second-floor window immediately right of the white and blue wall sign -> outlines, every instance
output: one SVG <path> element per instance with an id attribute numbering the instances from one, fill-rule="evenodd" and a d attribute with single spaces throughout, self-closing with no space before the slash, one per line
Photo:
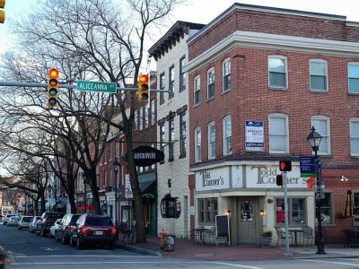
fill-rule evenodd
<path id="1" fill-rule="evenodd" d="M 289 152 L 288 117 L 283 114 L 269 115 L 269 152 Z"/>

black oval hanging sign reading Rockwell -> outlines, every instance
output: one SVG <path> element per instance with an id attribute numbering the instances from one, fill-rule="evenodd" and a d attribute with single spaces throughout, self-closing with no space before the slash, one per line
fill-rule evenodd
<path id="1" fill-rule="evenodd" d="M 126 154 L 127 159 L 127 154 Z M 134 150 L 134 161 L 136 166 L 151 166 L 156 162 L 164 160 L 164 153 L 150 146 L 139 146 Z"/>

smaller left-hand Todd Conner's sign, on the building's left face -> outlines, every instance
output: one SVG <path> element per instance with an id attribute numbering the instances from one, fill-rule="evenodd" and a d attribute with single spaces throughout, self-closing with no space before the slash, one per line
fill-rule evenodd
<path id="1" fill-rule="evenodd" d="M 196 172 L 196 191 L 229 188 L 229 171 L 229 167 L 223 167 Z"/>

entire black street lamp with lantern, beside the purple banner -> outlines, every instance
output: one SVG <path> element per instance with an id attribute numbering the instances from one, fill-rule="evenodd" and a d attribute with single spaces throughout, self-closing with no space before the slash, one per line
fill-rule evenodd
<path id="1" fill-rule="evenodd" d="M 317 240 L 318 251 L 317 254 L 327 254 L 324 251 L 324 238 L 323 230 L 321 228 L 321 194 L 322 194 L 322 180 L 321 180 L 321 162 L 318 160 L 318 151 L 320 149 L 321 135 L 315 131 L 314 126 L 311 127 L 311 134 L 308 135 L 307 140 L 311 144 L 311 148 L 314 151 L 315 156 L 315 173 L 317 175 L 317 221 L 318 221 L 318 236 Z"/>

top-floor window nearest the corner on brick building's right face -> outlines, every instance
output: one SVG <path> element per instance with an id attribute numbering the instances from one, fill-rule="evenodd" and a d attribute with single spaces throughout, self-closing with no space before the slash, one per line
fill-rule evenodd
<path id="1" fill-rule="evenodd" d="M 288 71 L 285 56 L 268 56 L 270 88 L 288 88 Z"/>

